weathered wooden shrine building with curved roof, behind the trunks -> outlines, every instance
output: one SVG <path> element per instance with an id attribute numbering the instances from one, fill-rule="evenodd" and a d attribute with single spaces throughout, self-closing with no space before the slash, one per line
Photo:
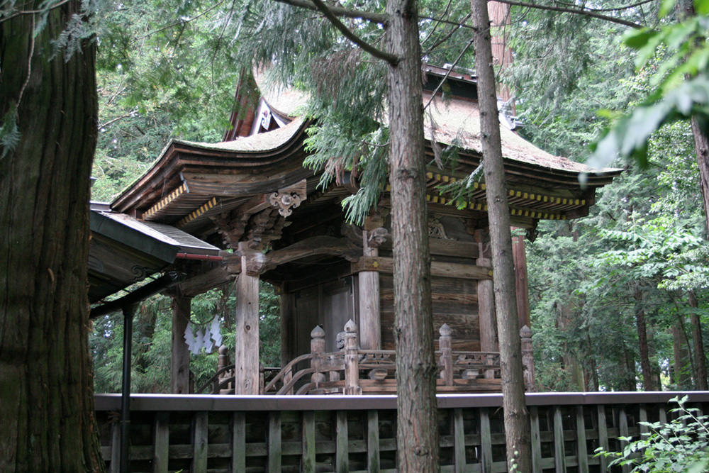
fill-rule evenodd
<path id="1" fill-rule="evenodd" d="M 481 162 L 475 77 L 427 66 L 424 98 L 430 99 L 430 91 L 449 72 L 446 100 L 439 94 L 430 105 L 436 129 L 425 130 L 432 162 L 433 137 L 442 146 L 459 148 L 455 169 L 430 165 L 427 174 L 432 307 L 435 330 L 442 328 L 440 386 L 444 391 L 494 391 L 499 367 L 485 184 L 473 184 L 469 200 L 457 205 L 439 190 Z M 179 260 L 189 278 L 172 290 L 173 391 L 188 391 L 182 333 L 190 298 L 232 280 L 238 335 L 236 352 L 228 355 L 235 365 L 237 394 L 276 392 L 270 389 L 279 386 L 281 393 L 292 393 L 306 384 L 300 392 L 391 391 L 389 193 L 363 227 L 347 223 L 341 201 L 354 184 L 345 175 L 343 184 L 318 189 L 320 174 L 302 165 L 307 156 L 303 140 L 313 123 L 298 116 L 298 107 L 307 98 L 293 90 L 269 91 L 262 84 L 259 90 L 257 106 L 242 110 L 242 118 L 233 117 L 227 140 L 171 140 L 155 164 L 111 203 L 113 213 L 177 228 L 223 250 L 220 262 Z M 510 130 L 510 123 L 501 119 L 510 213 L 518 228 L 534 233 L 540 220 L 585 216 L 596 189 L 620 172 L 592 172 L 549 155 Z M 588 173 L 585 187 L 579 184 L 581 173 Z M 259 279 L 280 289 L 281 366 L 287 367 L 268 389 L 259 378 Z M 353 323 L 343 331 L 350 319 Z M 321 329 L 313 330 L 318 325 Z M 346 359 L 359 365 L 352 368 Z M 369 379 L 359 380 L 358 370 Z"/>

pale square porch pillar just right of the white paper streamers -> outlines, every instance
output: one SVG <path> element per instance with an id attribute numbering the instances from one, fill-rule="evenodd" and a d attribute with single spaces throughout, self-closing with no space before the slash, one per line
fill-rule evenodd
<path id="1" fill-rule="evenodd" d="M 241 274 L 236 281 L 236 343 L 234 394 L 259 394 L 259 276 L 250 272 L 251 260 L 263 253 L 239 243 Z M 260 255 L 260 257 L 259 257 Z"/>

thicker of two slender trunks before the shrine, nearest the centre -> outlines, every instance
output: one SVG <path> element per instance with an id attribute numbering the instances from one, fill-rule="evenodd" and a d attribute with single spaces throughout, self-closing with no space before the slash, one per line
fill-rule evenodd
<path id="1" fill-rule="evenodd" d="M 438 435 L 425 200 L 423 87 L 415 1 L 389 0 L 389 180 L 396 312 L 398 471 L 437 472 Z"/>

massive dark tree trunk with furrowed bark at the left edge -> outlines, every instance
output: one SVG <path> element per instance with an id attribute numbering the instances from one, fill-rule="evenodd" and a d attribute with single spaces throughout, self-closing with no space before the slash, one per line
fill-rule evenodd
<path id="1" fill-rule="evenodd" d="M 0 157 L 2 472 L 104 468 L 86 295 L 96 48 L 66 61 L 51 44 L 80 4 L 60 2 L 36 36 L 37 15 L 0 23 L 0 116 L 17 107 L 20 133 Z"/>

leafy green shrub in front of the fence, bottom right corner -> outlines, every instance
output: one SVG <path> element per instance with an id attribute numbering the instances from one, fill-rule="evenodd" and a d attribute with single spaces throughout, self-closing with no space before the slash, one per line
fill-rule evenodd
<path id="1" fill-rule="evenodd" d="M 709 471 L 709 416 L 700 416 L 697 408 L 686 407 L 687 396 L 675 397 L 679 407 L 670 413 L 677 417 L 669 423 L 640 422 L 649 428 L 639 440 L 620 437 L 626 442 L 623 452 L 596 450 L 596 456 L 613 458 L 609 467 L 632 467 L 631 472 L 700 473 Z"/>

